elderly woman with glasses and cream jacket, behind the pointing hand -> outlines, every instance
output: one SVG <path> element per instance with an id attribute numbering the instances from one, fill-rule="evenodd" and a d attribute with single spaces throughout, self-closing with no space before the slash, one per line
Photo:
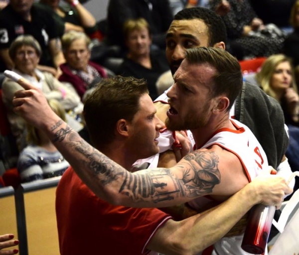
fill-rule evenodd
<path id="1" fill-rule="evenodd" d="M 41 53 L 40 45 L 31 35 L 17 37 L 9 48 L 9 56 L 14 63 L 12 70 L 40 88 L 48 100 L 56 99 L 60 102 L 64 110 L 69 111 L 77 108 L 81 102 L 75 91 L 59 82 L 52 74 L 36 69 Z M 3 103 L 7 108 L 8 121 L 19 149 L 24 145 L 25 122 L 13 112 L 12 99 L 14 93 L 22 89 L 20 85 L 11 79 L 5 78 L 3 81 Z"/>

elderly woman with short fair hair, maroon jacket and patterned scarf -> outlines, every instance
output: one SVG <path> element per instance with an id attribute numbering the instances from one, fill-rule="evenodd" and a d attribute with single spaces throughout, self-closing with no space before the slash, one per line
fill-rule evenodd
<path id="1" fill-rule="evenodd" d="M 71 83 L 82 99 L 91 84 L 107 78 L 107 72 L 89 61 L 90 38 L 86 34 L 70 31 L 62 36 L 61 43 L 66 63 L 60 65 L 62 75 L 58 79 Z"/>

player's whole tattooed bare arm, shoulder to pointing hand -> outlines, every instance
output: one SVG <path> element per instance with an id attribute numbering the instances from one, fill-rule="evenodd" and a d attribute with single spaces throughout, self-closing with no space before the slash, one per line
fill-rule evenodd
<path id="1" fill-rule="evenodd" d="M 25 80 L 18 81 L 19 84 L 22 82 L 25 83 Z M 51 111 L 38 89 L 24 84 L 23 87 L 25 90 L 15 93 L 15 111 L 29 123 L 47 132 L 80 178 L 97 196 L 110 203 L 165 207 L 206 194 L 230 196 L 246 184 L 240 181 L 242 176 L 236 176 L 237 172 L 242 173 L 236 156 L 234 158 L 232 153 L 216 145 L 188 154 L 171 168 L 131 173 L 90 146 L 62 122 Z M 230 171 L 223 174 L 223 169 L 228 167 Z M 238 182 L 231 183 L 232 178 Z M 227 187 L 226 184 L 230 185 Z"/>

